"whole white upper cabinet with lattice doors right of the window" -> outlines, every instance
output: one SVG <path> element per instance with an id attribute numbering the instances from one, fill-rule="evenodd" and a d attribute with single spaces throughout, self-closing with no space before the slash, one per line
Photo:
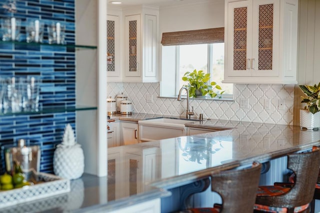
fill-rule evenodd
<path id="1" fill-rule="evenodd" d="M 297 83 L 297 0 L 226 0 L 224 24 L 223 82 Z"/>

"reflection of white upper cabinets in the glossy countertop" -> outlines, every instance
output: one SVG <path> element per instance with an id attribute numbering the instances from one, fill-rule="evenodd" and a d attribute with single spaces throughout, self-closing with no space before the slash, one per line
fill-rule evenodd
<path id="1" fill-rule="evenodd" d="M 143 183 L 155 181 L 161 175 L 159 147 L 136 149 L 113 147 L 108 149 L 108 187 L 115 194 L 109 200 L 136 195 L 147 190 Z M 113 196 L 113 197 L 111 197 Z M 115 197 L 114 197 L 115 196 Z"/>

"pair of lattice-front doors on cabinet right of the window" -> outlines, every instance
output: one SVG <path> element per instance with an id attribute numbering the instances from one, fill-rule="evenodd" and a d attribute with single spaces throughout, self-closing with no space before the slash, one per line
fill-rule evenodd
<path id="1" fill-rule="evenodd" d="M 279 1 L 230 1 L 227 13 L 227 75 L 277 76 Z"/>

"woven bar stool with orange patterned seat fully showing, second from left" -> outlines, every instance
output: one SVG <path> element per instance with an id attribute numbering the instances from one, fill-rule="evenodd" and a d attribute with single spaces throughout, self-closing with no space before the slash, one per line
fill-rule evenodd
<path id="1" fill-rule="evenodd" d="M 320 166 L 320 149 L 290 154 L 287 168 L 295 174 L 294 184 L 259 186 L 254 213 L 309 212 Z"/>

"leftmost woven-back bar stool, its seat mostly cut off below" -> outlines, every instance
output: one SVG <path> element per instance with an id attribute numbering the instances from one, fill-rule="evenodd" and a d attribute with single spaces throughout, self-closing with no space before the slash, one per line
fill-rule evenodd
<path id="1" fill-rule="evenodd" d="M 190 208 L 180 213 L 252 213 L 260 171 L 261 164 L 253 162 L 250 168 L 212 174 L 211 191 L 221 196 L 222 205 L 214 204 L 213 208 Z"/>

